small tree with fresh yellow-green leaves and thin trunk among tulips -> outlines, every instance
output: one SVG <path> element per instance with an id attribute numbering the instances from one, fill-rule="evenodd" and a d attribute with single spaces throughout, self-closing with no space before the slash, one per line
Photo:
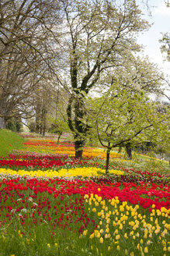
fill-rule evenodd
<path id="1" fill-rule="evenodd" d="M 164 140 L 169 133 L 166 112 L 158 112 L 155 102 L 114 84 L 101 98 L 89 99 L 92 132 L 107 149 L 106 172 L 112 148 Z M 165 135 L 166 134 L 166 135 Z"/>

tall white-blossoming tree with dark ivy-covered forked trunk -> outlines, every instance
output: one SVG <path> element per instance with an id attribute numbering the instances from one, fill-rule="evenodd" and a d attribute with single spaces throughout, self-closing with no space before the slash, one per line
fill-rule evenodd
<path id="1" fill-rule="evenodd" d="M 140 49 L 136 35 L 146 30 L 148 23 L 132 0 L 67 0 L 61 5 L 65 76 L 70 91 L 68 125 L 75 137 L 75 158 L 82 158 L 89 128 L 82 122 L 85 94 L 92 91 L 106 69 L 123 66 L 127 53 Z"/>

